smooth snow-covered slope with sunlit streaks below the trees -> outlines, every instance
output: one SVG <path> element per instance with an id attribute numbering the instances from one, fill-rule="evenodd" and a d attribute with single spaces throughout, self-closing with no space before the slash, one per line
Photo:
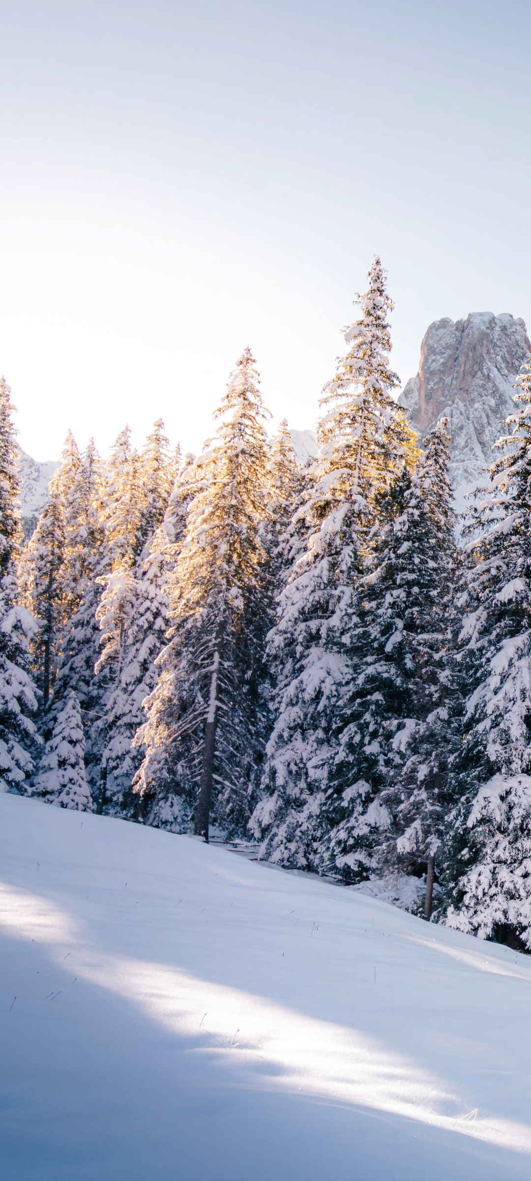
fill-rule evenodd
<path id="1" fill-rule="evenodd" d="M 530 958 L 13 796 L 0 847 L 2 1181 L 529 1181 Z"/>

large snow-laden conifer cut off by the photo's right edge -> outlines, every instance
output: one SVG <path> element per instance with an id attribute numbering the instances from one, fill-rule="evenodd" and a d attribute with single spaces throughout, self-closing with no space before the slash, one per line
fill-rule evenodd
<path id="1" fill-rule="evenodd" d="M 468 687 L 448 824 L 448 926 L 531 948 L 531 361 L 477 490 L 460 660 Z"/>

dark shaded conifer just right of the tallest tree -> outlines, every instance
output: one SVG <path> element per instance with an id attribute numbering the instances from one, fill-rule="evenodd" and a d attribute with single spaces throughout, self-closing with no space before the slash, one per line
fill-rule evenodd
<path id="1" fill-rule="evenodd" d="M 450 802 L 448 757 L 455 713 L 451 652 L 453 543 L 447 423 L 425 439 L 419 465 L 380 501 L 372 561 L 361 581 L 367 628 L 353 720 L 360 730 L 360 771 L 371 788 L 349 841 L 348 803 L 332 833 L 342 868 L 358 863 L 360 833 L 367 868 L 428 870 Z M 360 722 L 363 719 L 363 724 Z M 369 720 L 371 719 L 371 720 Z M 346 736 L 343 736 L 345 739 Z M 365 765 L 361 765 L 361 764 Z"/>

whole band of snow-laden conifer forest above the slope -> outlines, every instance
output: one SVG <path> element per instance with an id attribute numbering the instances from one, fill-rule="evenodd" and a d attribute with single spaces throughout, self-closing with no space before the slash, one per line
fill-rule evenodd
<path id="1" fill-rule="evenodd" d="M 68 432 L 25 540 L 0 384 L 0 790 L 531 950 L 531 361 L 455 541 L 448 423 L 396 402 L 375 257 L 306 466 L 249 348 L 199 456 Z M 330 366 L 332 368 L 332 366 Z"/>

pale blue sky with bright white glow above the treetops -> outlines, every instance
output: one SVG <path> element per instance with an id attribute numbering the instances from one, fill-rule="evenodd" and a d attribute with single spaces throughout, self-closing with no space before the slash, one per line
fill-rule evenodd
<path id="1" fill-rule="evenodd" d="M 531 326 L 522 0 L 0 0 L 0 373 L 19 441 L 201 448 L 248 345 L 313 429 L 375 253 L 393 366 Z"/>

